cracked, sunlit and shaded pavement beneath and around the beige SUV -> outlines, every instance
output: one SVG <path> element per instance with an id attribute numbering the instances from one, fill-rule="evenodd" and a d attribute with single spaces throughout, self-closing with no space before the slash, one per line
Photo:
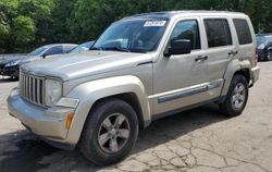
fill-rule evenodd
<path id="1" fill-rule="evenodd" d="M 106 168 L 24 130 L 5 103 L 17 83 L 0 77 L 0 171 L 272 171 L 272 62 L 259 65 L 260 81 L 240 116 L 224 118 L 211 105 L 159 120 L 140 132 L 128 158 Z"/>

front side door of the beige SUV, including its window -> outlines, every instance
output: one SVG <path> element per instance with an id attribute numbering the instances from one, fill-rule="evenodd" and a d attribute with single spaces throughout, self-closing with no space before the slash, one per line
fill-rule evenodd
<path id="1" fill-rule="evenodd" d="M 162 54 L 154 63 L 154 94 L 149 97 L 153 102 L 153 114 L 163 114 L 207 99 L 207 59 L 202 49 L 206 39 L 200 37 L 205 32 L 199 29 L 201 24 L 198 17 L 176 22 L 169 45 L 176 39 L 189 39 L 191 52 L 169 58 Z"/>

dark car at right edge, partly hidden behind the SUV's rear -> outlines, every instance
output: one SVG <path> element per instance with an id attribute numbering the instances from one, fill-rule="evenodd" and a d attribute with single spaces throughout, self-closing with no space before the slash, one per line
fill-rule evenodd
<path id="1" fill-rule="evenodd" d="M 256 35 L 258 45 L 258 60 L 272 60 L 272 34 Z"/>

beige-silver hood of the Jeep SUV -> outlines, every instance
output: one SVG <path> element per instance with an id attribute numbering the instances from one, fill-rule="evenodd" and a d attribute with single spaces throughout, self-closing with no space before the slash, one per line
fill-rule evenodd
<path id="1" fill-rule="evenodd" d="M 71 81 L 89 75 L 112 72 L 137 66 L 150 62 L 148 53 L 118 51 L 84 51 L 55 56 L 24 64 L 22 69 L 38 75 L 55 76 L 62 81 Z"/>

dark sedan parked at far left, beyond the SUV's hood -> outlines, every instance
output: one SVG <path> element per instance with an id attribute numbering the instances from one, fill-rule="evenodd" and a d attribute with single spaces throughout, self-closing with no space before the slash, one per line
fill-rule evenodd
<path id="1" fill-rule="evenodd" d="M 47 45 L 35 49 L 27 56 L 3 59 L 0 62 L 0 75 L 18 77 L 20 65 L 53 54 L 67 53 L 76 46 L 72 44 Z"/>

